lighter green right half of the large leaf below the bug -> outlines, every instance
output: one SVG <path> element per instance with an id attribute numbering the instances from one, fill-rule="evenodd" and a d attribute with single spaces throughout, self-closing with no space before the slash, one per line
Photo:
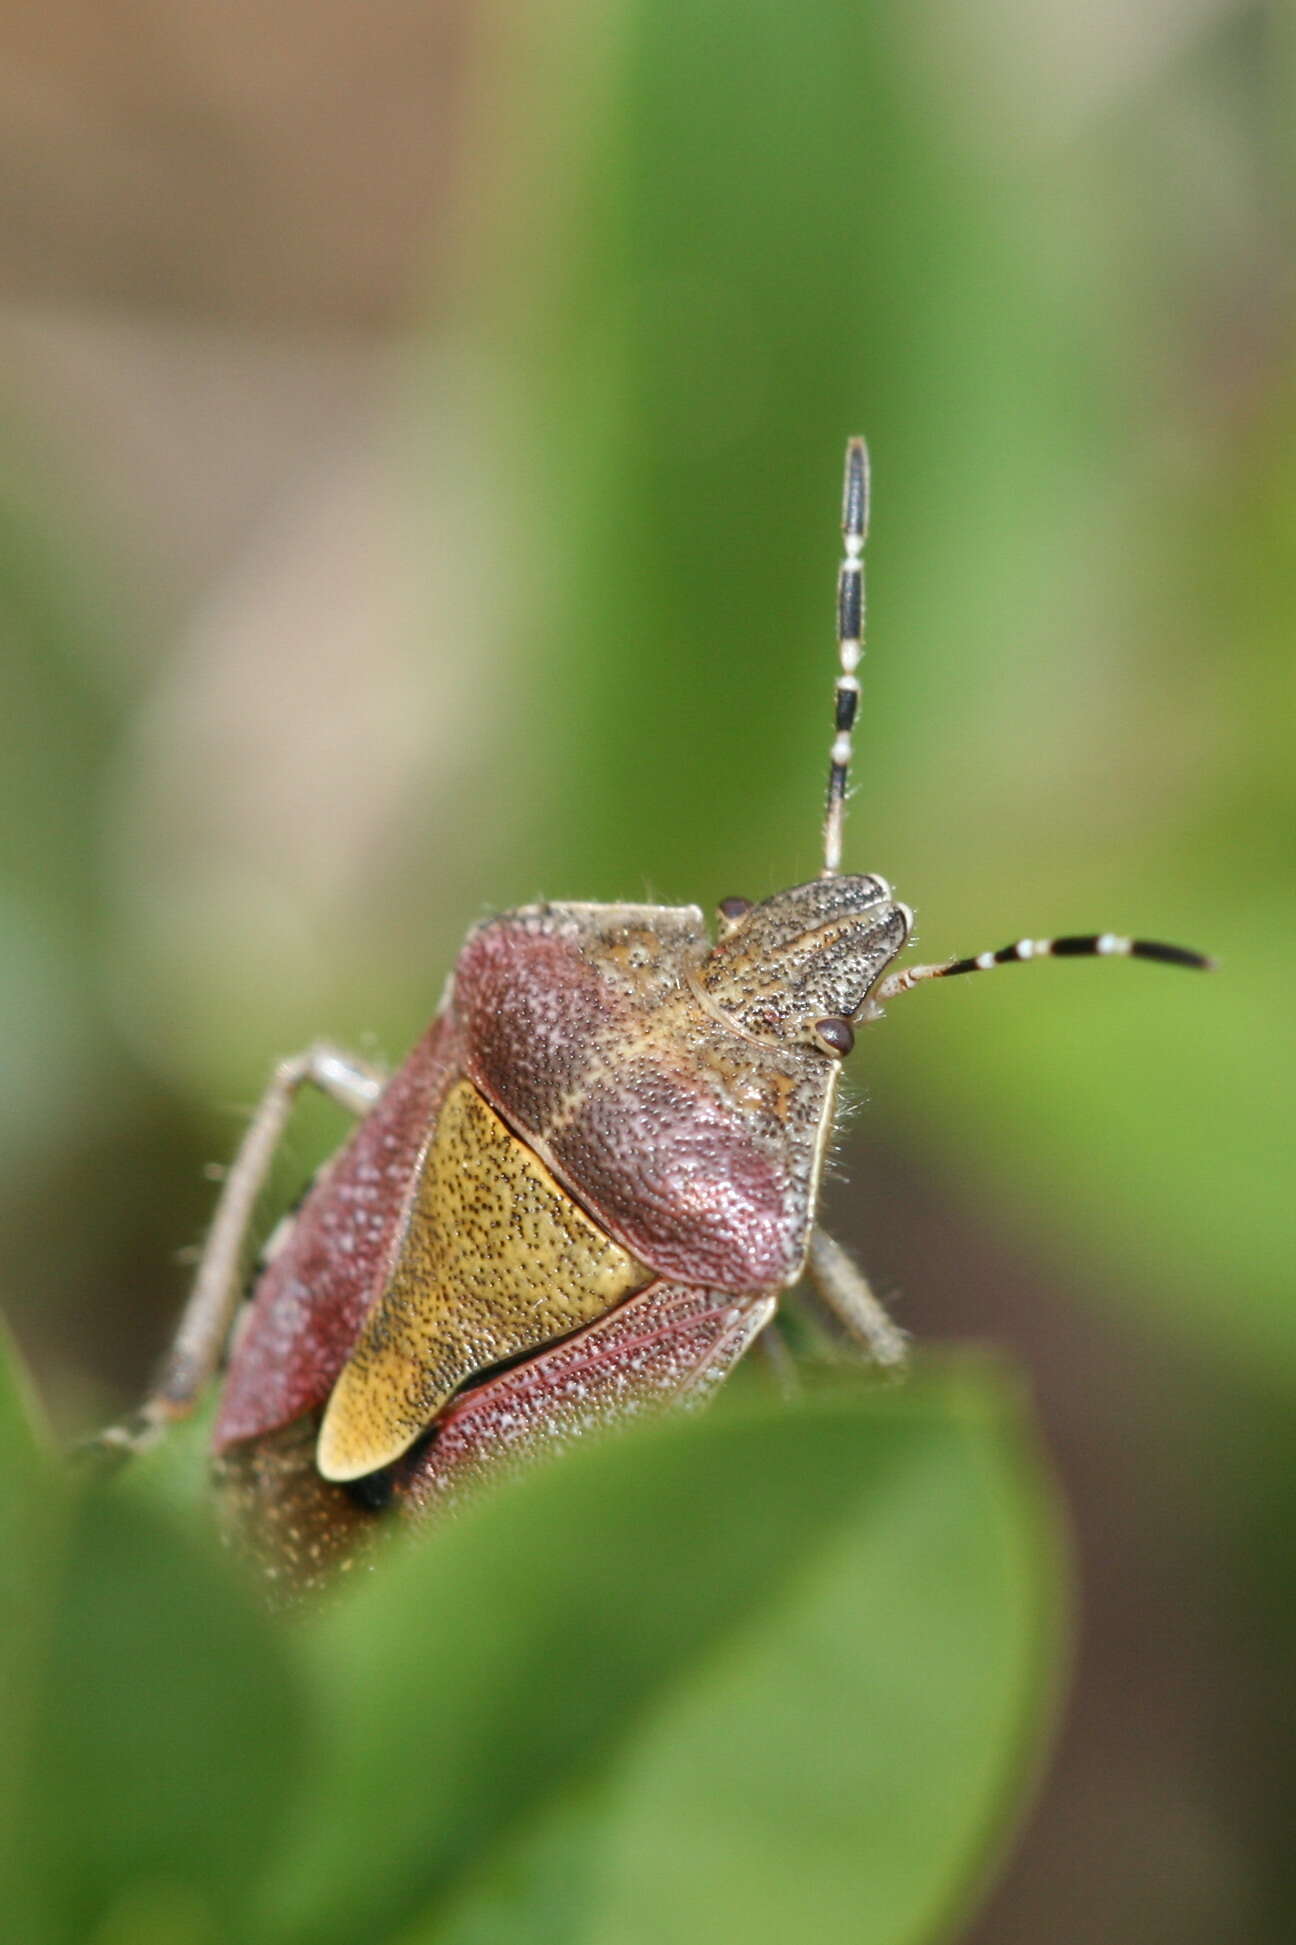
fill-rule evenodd
<path id="1" fill-rule="evenodd" d="M 950 1402 L 632 1754 L 592 1945 L 917 1945 L 967 1902 L 1037 1749 L 1057 1548 L 1027 1445 Z"/>

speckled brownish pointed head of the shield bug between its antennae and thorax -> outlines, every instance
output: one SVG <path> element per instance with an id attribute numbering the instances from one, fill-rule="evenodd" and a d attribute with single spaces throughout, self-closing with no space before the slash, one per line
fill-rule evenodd
<path id="1" fill-rule="evenodd" d="M 883 877 L 817 877 L 720 908 L 724 937 L 697 982 L 739 1033 L 843 1056 L 872 986 L 905 949 L 913 912 Z"/>

